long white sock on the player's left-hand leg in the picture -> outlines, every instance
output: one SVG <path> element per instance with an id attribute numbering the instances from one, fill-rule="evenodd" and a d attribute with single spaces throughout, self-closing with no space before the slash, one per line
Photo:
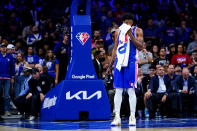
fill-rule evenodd
<path id="1" fill-rule="evenodd" d="M 121 103 L 122 103 L 122 92 L 123 92 L 122 88 L 116 88 L 116 93 L 114 96 L 114 111 L 115 111 L 116 117 L 120 117 L 120 107 L 121 107 Z"/>

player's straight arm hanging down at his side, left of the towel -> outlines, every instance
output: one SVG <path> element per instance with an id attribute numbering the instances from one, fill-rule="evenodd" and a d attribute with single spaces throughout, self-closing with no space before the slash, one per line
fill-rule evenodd
<path id="1" fill-rule="evenodd" d="M 115 60 L 116 51 L 117 51 L 117 48 L 118 48 L 118 39 L 117 39 L 118 33 L 119 33 L 119 30 L 116 30 L 115 38 L 114 38 L 114 48 L 113 48 L 113 51 L 112 51 L 112 57 L 111 57 L 111 60 L 110 60 L 109 66 L 108 66 L 107 73 L 109 73 L 109 70 L 112 69 L 112 65 L 113 65 L 114 60 Z"/>

